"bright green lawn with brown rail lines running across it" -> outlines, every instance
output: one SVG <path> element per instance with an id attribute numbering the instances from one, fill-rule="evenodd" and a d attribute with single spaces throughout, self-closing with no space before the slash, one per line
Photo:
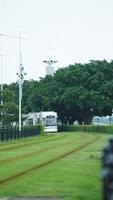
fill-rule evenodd
<path id="1" fill-rule="evenodd" d="M 0 197 L 101 200 L 110 135 L 56 133 L 0 144 Z"/>

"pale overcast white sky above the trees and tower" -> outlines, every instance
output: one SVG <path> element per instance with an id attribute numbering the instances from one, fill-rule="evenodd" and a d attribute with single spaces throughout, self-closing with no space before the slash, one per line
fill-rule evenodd
<path id="1" fill-rule="evenodd" d="M 0 34 L 21 31 L 25 79 L 45 76 L 43 60 L 55 68 L 91 59 L 113 59 L 113 0 L 0 0 Z M 18 39 L 0 36 L 3 82 L 15 82 Z M 0 71 L 1 73 L 1 71 Z"/>

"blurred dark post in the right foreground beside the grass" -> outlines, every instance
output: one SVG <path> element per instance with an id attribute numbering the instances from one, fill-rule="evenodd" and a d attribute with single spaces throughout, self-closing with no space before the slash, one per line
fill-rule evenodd
<path id="1" fill-rule="evenodd" d="M 103 200 L 113 200 L 113 139 L 103 149 Z"/>

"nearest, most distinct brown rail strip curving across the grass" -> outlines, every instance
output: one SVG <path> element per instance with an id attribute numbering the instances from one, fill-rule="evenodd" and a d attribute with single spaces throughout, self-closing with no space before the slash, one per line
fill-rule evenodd
<path id="1" fill-rule="evenodd" d="M 65 157 L 71 155 L 72 153 L 78 152 L 78 151 L 84 149 L 85 147 L 87 147 L 88 145 L 91 145 L 91 144 L 97 142 L 99 139 L 100 139 L 100 137 L 98 136 L 98 137 L 96 137 L 95 139 L 90 140 L 89 142 L 86 142 L 86 143 L 80 145 L 79 147 L 73 148 L 73 149 L 70 150 L 70 151 L 64 152 L 64 153 L 62 153 L 62 154 L 60 154 L 60 155 L 58 155 L 58 156 L 56 156 L 56 157 L 54 157 L 54 158 L 48 159 L 47 161 L 42 162 L 41 164 L 35 165 L 35 166 L 33 166 L 33 167 L 30 167 L 30 168 L 28 168 L 28 169 L 26 169 L 26 170 L 23 170 L 23 171 L 17 173 L 17 174 L 14 174 L 14 175 L 9 176 L 9 177 L 7 177 L 7 178 L 5 178 L 5 179 L 2 179 L 2 180 L 0 180 L 0 185 L 4 185 L 5 183 L 8 183 L 8 182 L 10 182 L 10 181 L 13 181 L 14 179 L 17 179 L 17 178 L 19 178 L 19 177 L 22 177 L 22 176 L 24 176 L 24 175 L 27 175 L 29 172 L 33 172 L 34 170 L 41 169 L 41 168 L 43 168 L 43 167 L 48 166 L 49 164 L 52 164 L 52 163 L 54 163 L 54 162 L 56 162 L 56 161 L 59 161 L 59 160 L 65 158 Z M 66 144 L 65 144 L 65 145 L 66 145 Z"/>

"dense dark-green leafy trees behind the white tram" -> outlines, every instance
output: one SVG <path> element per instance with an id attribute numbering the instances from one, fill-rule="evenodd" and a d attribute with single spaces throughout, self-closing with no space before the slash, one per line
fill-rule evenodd
<path id="1" fill-rule="evenodd" d="M 18 83 L 4 85 L 3 121 L 18 118 Z M 24 81 L 22 112 L 54 110 L 62 123 L 90 124 L 93 116 L 111 115 L 113 61 L 90 61 L 60 68 L 53 76 Z M 12 114 L 12 115 L 11 115 Z M 4 116 L 4 117 L 3 117 Z"/>

